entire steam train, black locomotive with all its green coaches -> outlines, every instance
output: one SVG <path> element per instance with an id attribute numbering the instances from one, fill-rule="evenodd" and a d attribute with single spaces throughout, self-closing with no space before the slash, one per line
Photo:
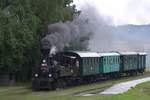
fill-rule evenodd
<path id="1" fill-rule="evenodd" d="M 90 83 L 107 77 L 143 73 L 145 52 L 64 51 L 49 55 L 44 47 L 41 65 L 32 77 L 32 88 L 56 89 L 68 85 Z"/>

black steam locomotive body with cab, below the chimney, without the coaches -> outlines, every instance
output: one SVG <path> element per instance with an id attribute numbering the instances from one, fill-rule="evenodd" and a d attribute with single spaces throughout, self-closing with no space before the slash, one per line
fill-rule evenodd
<path id="1" fill-rule="evenodd" d="M 74 57 L 63 55 L 62 52 L 49 57 L 45 55 L 41 65 L 33 72 L 32 87 L 34 90 L 65 87 L 69 82 L 75 82 L 78 69 L 79 62 Z"/>

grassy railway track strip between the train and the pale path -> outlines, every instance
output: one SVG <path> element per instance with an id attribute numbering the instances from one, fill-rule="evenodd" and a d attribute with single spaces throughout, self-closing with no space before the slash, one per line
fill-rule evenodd
<path id="1" fill-rule="evenodd" d="M 81 96 L 86 94 L 96 94 L 104 91 L 106 88 L 111 87 L 112 85 L 130 81 L 134 79 L 140 79 L 149 76 L 150 73 L 144 73 L 143 75 L 138 74 L 137 76 L 123 76 L 117 79 L 101 80 L 91 84 L 84 84 L 80 86 L 70 86 L 65 89 L 61 89 L 60 95 L 69 95 L 69 96 Z M 69 90 L 69 92 L 67 92 Z M 71 91 L 72 90 L 72 91 Z M 58 91 L 59 92 L 59 91 Z"/>

